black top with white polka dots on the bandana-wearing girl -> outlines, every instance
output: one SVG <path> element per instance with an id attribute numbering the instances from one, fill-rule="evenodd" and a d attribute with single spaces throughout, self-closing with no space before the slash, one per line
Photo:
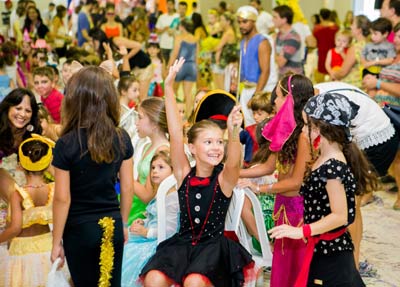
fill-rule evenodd
<path id="1" fill-rule="evenodd" d="M 313 170 L 304 181 L 300 194 L 304 197 L 304 222 L 310 224 L 331 213 L 329 197 L 326 191 L 328 180 L 340 180 L 344 185 L 347 199 L 348 222 L 331 232 L 338 231 L 353 223 L 355 217 L 356 180 L 349 166 L 339 160 L 329 159 L 320 167 Z M 325 241 L 321 240 L 314 249 L 314 253 L 329 255 L 332 253 L 353 250 L 353 243 L 348 231 L 342 236 Z"/>

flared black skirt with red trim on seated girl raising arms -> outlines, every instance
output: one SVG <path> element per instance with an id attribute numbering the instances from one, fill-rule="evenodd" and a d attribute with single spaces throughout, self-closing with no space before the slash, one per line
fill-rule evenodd
<path id="1" fill-rule="evenodd" d="M 191 273 L 206 276 L 214 286 L 239 287 L 245 281 L 245 269 L 252 267 L 251 254 L 225 236 L 211 238 L 193 246 L 175 234 L 157 247 L 156 253 L 143 267 L 140 277 L 150 270 L 158 270 L 182 285 Z"/>

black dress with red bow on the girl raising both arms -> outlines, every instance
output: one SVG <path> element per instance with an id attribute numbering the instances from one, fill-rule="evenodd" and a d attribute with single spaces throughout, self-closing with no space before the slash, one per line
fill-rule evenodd
<path id="1" fill-rule="evenodd" d="M 206 276 L 214 286 L 243 285 L 243 268 L 253 261 L 240 243 L 224 236 L 230 198 L 219 186 L 222 167 L 214 168 L 205 185 L 195 185 L 193 179 L 198 179 L 195 168 L 186 176 L 178 190 L 179 231 L 158 245 L 141 276 L 150 270 L 159 270 L 182 285 L 185 276 L 197 273 Z"/>

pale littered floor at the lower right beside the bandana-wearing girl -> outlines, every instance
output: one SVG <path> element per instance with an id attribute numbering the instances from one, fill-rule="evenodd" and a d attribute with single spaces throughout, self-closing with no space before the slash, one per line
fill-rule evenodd
<path id="1" fill-rule="evenodd" d="M 363 278 L 367 287 L 400 287 L 400 211 L 392 209 L 396 196 L 379 191 L 373 203 L 362 207 L 361 260 L 371 263 L 378 274 Z M 257 286 L 269 286 L 268 279 Z"/>

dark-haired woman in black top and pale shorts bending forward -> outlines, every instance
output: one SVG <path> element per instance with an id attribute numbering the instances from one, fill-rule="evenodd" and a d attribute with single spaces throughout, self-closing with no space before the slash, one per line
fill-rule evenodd
<path id="1" fill-rule="evenodd" d="M 135 78 L 140 83 L 140 100 L 144 100 L 153 78 L 153 67 L 149 56 L 142 50 L 142 45 L 125 37 L 107 38 L 106 33 L 99 28 L 90 30 L 89 35 L 93 39 L 96 53 L 102 60 L 106 60 L 107 57 L 104 45 L 110 46 L 114 60 L 121 58 L 121 48 L 128 49 L 126 57 L 129 59 L 129 65 Z"/>

